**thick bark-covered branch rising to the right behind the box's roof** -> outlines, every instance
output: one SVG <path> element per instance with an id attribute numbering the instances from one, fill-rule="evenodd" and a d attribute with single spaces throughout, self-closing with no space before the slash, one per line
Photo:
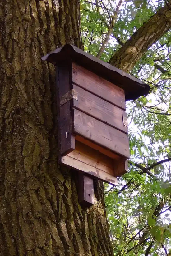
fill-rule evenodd
<path id="1" fill-rule="evenodd" d="M 114 54 L 109 63 L 126 72 L 132 70 L 143 54 L 171 27 L 171 10 L 162 7 Z"/>

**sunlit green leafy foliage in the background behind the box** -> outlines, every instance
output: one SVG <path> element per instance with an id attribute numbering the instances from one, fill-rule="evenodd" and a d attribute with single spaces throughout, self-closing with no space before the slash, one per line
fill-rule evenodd
<path id="1" fill-rule="evenodd" d="M 98 5 L 97 5 L 98 3 Z M 118 3 L 118 2 L 117 2 Z M 84 49 L 96 56 L 117 3 L 81 1 Z M 108 61 L 164 1 L 128 0 L 101 59 Z M 106 212 L 119 255 L 171 255 L 171 32 L 141 58 L 132 75 L 150 84 L 147 97 L 127 102 L 131 159 L 119 186 L 105 184 Z"/>

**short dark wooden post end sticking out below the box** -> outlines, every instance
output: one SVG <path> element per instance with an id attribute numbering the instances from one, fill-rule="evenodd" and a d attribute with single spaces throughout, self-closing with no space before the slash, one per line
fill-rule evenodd
<path id="1" fill-rule="evenodd" d="M 94 204 L 93 178 L 78 173 L 78 201 L 82 207 L 90 207 Z"/>

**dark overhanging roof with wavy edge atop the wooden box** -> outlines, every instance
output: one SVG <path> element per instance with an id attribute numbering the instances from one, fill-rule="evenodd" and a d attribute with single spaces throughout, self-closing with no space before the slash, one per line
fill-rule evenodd
<path id="1" fill-rule="evenodd" d="M 138 97 L 149 93 L 150 86 L 143 83 L 141 80 L 70 44 L 66 44 L 63 47 L 50 52 L 42 57 L 42 60 L 46 60 L 56 65 L 65 59 L 67 61 L 68 58 L 123 88 L 125 90 L 126 100 L 135 100 Z"/>

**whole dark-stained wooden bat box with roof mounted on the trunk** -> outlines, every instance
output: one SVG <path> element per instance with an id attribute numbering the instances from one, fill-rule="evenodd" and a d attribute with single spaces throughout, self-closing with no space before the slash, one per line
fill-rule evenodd
<path id="1" fill-rule="evenodd" d="M 56 66 L 59 162 L 84 175 L 79 201 L 93 204 L 93 177 L 117 184 L 127 171 L 129 139 L 125 101 L 149 86 L 110 64 L 65 45 L 42 57 Z"/>

